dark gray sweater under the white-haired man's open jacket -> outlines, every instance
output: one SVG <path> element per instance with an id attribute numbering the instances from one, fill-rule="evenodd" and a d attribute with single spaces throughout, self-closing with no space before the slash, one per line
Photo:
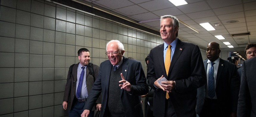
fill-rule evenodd
<path id="1" fill-rule="evenodd" d="M 122 117 L 125 116 L 124 108 L 121 100 L 121 87 L 119 83 L 121 79 L 122 67 L 119 69 L 113 70 L 112 66 L 109 80 L 109 98 L 108 98 L 108 107 L 112 117 Z"/>

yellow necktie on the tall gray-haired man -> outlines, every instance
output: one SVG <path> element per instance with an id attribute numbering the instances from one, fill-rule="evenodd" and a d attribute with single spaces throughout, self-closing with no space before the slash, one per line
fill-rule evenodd
<path id="1" fill-rule="evenodd" d="M 171 45 L 168 45 L 166 55 L 165 55 L 165 61 L 164 61 L 164 66 L 165 66 L 167 76 L 168 76 L 170 65 L 171 65 Z M 168 92 L 166 92 L 166 99 L 169 99 L 169 98 L 170 98 L 169 94 Z"/>

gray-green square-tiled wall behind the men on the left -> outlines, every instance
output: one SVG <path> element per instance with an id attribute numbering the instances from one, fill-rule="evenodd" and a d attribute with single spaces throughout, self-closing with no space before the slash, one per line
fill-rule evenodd
<path id="1" fill-rule="evenodd" d="M 163 43 L 158 36 L 44 0 L 0 0 L 0 117 L 60 117 L 68 68 L 79 48 L 91 62 L 107 60 L 118 39 L 141 61 Z"/>

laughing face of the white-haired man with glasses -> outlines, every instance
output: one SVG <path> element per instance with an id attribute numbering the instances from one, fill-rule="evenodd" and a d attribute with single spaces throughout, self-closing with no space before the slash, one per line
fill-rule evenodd
<path id="1" fill-rule="evenodd" d="M 117 42 L 110 42 L 107 45 L 107 52 L 110 52 L 111 54 L 107 55 L 109 61 L 112 65 L 117 65 L 123 57 L 124 50 L 118 50 Z M 112 52 L 118 52 L 115 56 L 113 56 Z"/>

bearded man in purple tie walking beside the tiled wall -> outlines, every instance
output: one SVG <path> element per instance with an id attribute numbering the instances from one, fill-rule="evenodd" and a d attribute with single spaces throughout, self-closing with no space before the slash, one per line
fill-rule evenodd
<path id="1" fill-rule="evenodd" d="M 93 75 L 92 73 L 89 73 L 89 68 L 88 68 L 88 64 L 90 62 L 89 50 L 86 48 L 81 48 L 78 50 L 77 53 L 78 53 L 78 59 L 80 62 L 78 64 L 74 64 L 73 68 L 72 69 L 70 68 L 68 71 L 67 84 L 65 87 L 63 103 L 62 103 L 63 109 L 67 110 L 68 99 L 69 99 L 69 96 L 71 97 L 71 100 L 70 100 L 71 108 L 69 111 L 70 117 L 77 117 L 82 114 L 85 101 L 88 95 L 90 95 L 90 90 L 94 83 Z M 97 79 L 99 66 L 93 65 L 93 71 L 95 74 L 95 79 Z M 99 98 L 96 103 L 97 103 L 96 104 L 97 110 L 98 109 L 100 110 L 101 98 Z M 93 116 L 94 110 L 96 109 L 96 107 L 92 109 L 92 114 L 90 114 L 90 117 Z"/>

